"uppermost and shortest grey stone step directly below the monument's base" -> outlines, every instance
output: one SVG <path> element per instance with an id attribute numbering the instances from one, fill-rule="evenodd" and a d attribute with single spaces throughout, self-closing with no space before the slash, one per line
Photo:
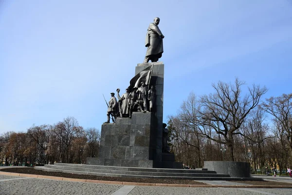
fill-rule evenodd
<path id="1" fill-rule="evenodd" d="M 45 165 L 45 166 L 49 166 L 49 165 Z M 137 171 L 137 172 L 216 174 L 216 171 L 208 171 L 207 169 L 162 169 L 162 168 L 158 169 L 158 168 L 115 167 L 115 166 L 67 164 L 67 163 L 55 163 L 55 166 L 80 167 L 80 168 L 103 169 L 103 170 Z"/>

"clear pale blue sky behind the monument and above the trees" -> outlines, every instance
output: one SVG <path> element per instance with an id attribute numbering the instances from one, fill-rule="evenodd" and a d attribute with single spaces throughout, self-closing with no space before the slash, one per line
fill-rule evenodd
<path id="1" fill-rule="evenodd" d="M 68 116 L 101 129 L 102 94 L 124 93 L 155 17 L 165 122 L 219 80 L 265 85 L 264 98 L 292 93 L 292 0 L 2 0 L 0 134 Z"/>

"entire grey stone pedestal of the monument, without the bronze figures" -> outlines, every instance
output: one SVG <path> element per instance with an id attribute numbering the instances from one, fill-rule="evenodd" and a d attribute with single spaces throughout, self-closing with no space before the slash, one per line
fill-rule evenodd
<path id="1" fill-rule="evenodd" d="M 153 64 L 150 85 L 156 88 L 153 113 L 133 112 L 132 118 L 117 118 L 101 128 L 99 158 L 87 158 L 87 164 L 146 168 L 183 168 L 173 154 L 162 153 L 163 130 L 163 62 L 142 63 L 135 75 Z"/>

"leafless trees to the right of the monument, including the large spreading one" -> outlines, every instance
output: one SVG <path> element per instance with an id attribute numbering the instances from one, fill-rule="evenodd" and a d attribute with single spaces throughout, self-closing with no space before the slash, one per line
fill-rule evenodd
<path id="1" fill-rule="evenodd" d="M 170 148 L 190 167 L 203 161 L 251 162 L 255 170 L 292 165 L 292 94 L 261 101 L 266 87 L 219 81 L 214 93 L 190 93 L 178 113 L 169 116 Z"/>

